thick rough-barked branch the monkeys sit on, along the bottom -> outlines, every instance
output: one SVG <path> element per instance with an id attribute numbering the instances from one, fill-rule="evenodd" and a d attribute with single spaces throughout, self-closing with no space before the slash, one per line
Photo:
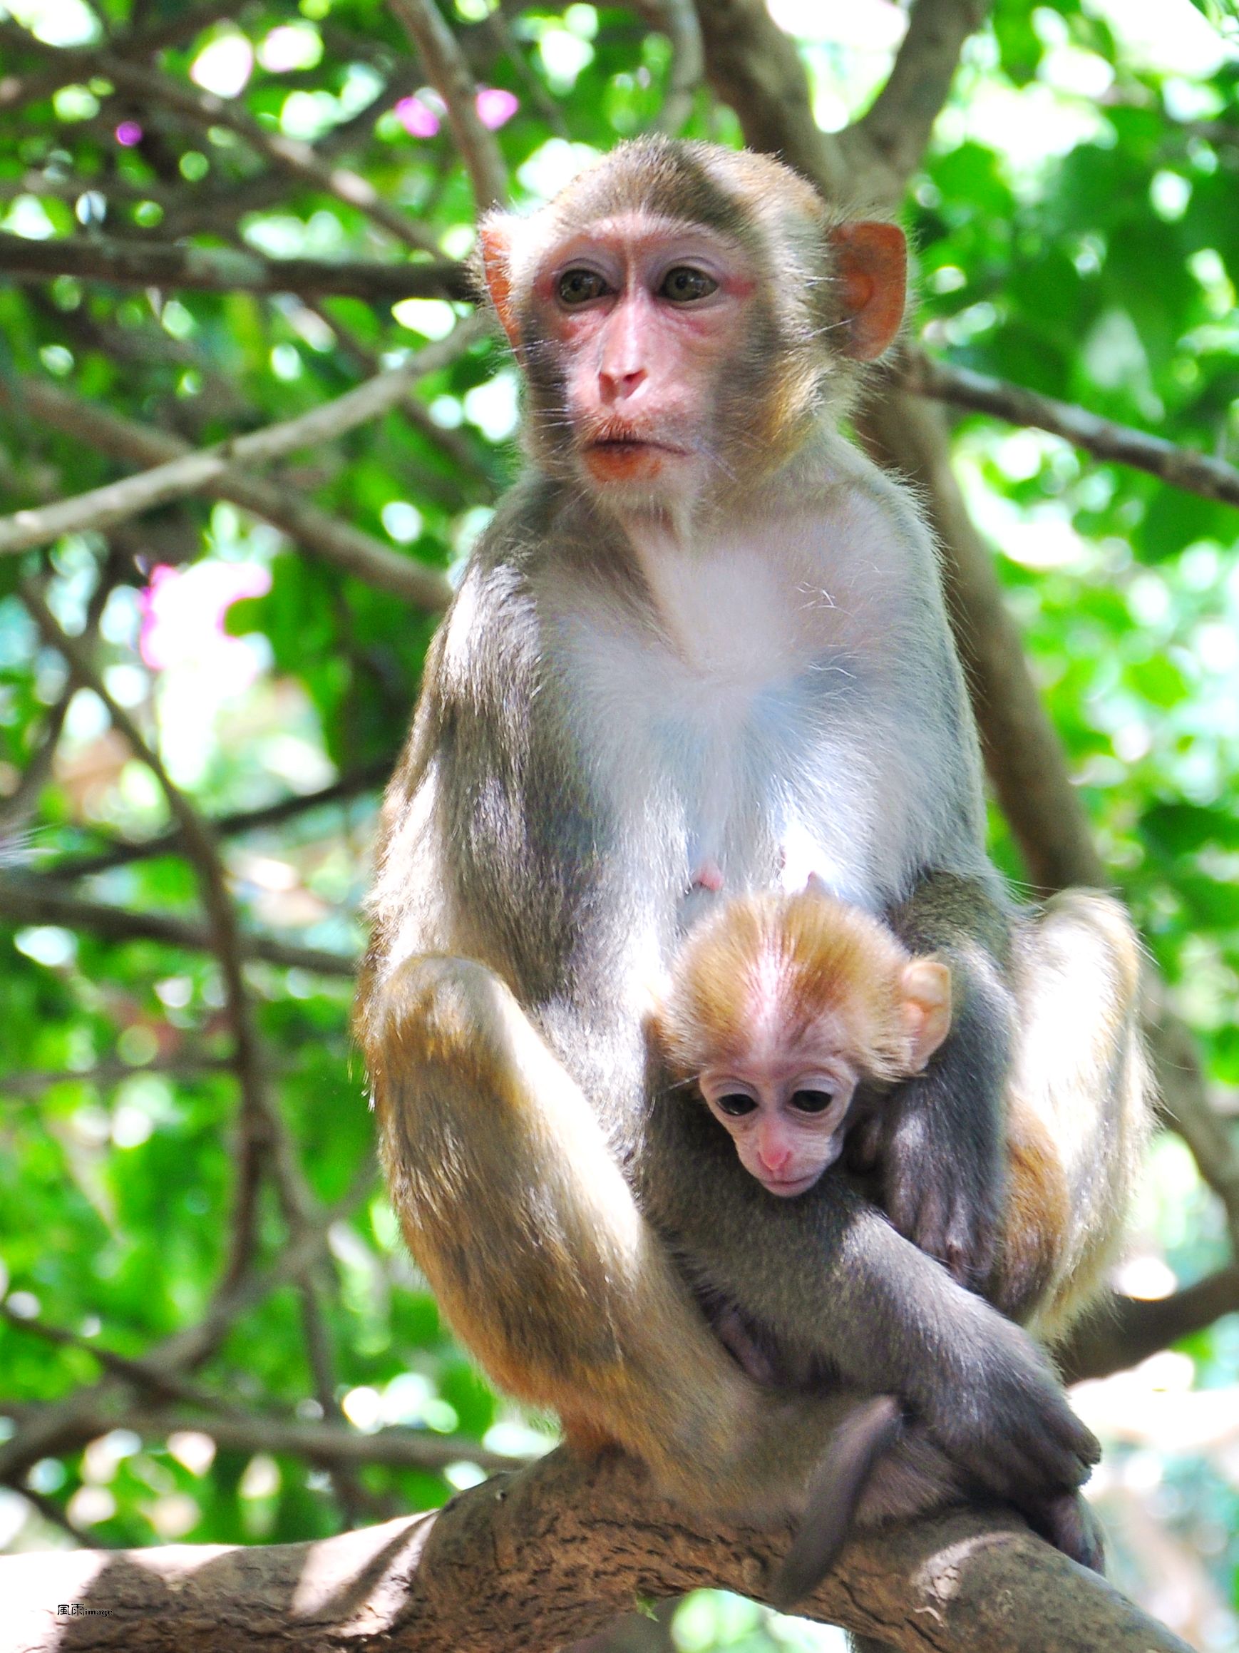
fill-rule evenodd
<path id="1" fill-rule="evenodd" d="M 785 1542 L 651 1499 L 624 1460 L 557 1451 L 438 1514 L 317 1544 L 0 1560 L 0 1653 L 548 1653 L 638 1597 L 760 1598 Z M 61 1602 L 79 1617 L 58 1622 Z M 801 1612 L 915 1653 L 1189 1653 L 1013 1519 L 971 1511 L 849 1546 Z"/>

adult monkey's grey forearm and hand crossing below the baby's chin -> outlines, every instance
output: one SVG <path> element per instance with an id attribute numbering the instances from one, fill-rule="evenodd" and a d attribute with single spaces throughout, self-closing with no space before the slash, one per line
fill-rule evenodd
<path id="1" fill-rule="evenodd" d="M 843 1177 L 780 1200 L 745 1174 L 705 1109 L 676 1094 L 659 1099 L 649 1131 L 653 1220 L 776 1349 L 899 1395 L 973 1484 L 1029 1512 L 1080 1483 L 1097 1443 L 1036 1344 Z M 702 1167 L 691 1185 L 674 1177 L 686 1160 Z"/>

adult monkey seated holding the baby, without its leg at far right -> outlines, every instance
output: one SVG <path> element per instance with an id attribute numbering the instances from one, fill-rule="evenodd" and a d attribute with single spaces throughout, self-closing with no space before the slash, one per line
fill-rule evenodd
<path id="1" fill-rule="evenodd" d="M 649 139 L 481 240 L 530 464 L 428 656 L 357 1023 L 410 1248 L 501 1387 L 699 1508 L 803 1508 L 857 1392 L 890 1392 L 917 1422 L 871 1511 L 966 1484 L 1090 1559 L 1095 1443 L 963 1284 L 993 1261 L 1011 1023 L 976 737 L 928 534 L 838 433 L 900 322 L 902 236 Z M 809 869 L 961 988 L 885 1114 L 895 1227 L 841 1177 L 773 1200 L 738 1164 L 681 1202 L 648 1109 L 648 984 L 694 904 Z M 775 1400 L 694 1289 L 851 1387 Z"/>

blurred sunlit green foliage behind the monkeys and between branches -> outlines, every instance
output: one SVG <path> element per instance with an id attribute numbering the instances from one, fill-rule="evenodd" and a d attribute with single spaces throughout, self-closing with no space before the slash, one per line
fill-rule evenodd
<path id="1" fill-rule="evenodd" d="M 117 91 L 91 73 L 89 53 L 73 74 L 61 71 L 63 84 L 45 74 L 55 50 L 162 28 L 165 78 L 218 91 L 269 134 L 316 144 L 444 253 L 468 253 L 468 180 L 378 0 L 8 7 L 45 46 L 17 48 L 12 35 L 0 43 L 0 79 L 30 76 L 36 93 L 0 122 L 2 228 L 135 243 L 188 236 L 273 256 L 403 256 L 355 205 L 273 170 L 244 136 L 188 119 L 157 88 Z M 899 33 L 882 0 L 847 12 L 843 31 L 836 8 L 776 7 L 801 38 L 826 126 L 862 111 Z M 456 0 L 451 15 L 479 83 L 515 101 L 497 139 L 517 203 L 657 114 L 669 51 L 628 10 Z M 907 207 L 930 349 L 1239 461 L 1231 23 L 1232 8 L 1216 0 L 999 0 L 966 48 Z M 738 129 L 702 93 L 689 136 L 737 142 Z M 0 291 L 0 380 L 17 390 L 18 410 L 0 413 L 0 511 L 122 474 L 89 441 L 23 413 L 23 375 L 202 445 L 339 395 L 451 319 L 438 301 L 393 314 L 358 299 L 126 291 L 68 276 L 10 286 Z M 497 344 L 477 345 L 421 383 L 418 403 L 297 455 L 279 476 L 401 554 L 451 570 L 512 473 L 512 369 Z M 1221 1096 L 1239 1084 L 1239 517 L 980 417 L 958 418 L 957 455 L 1097 841 Z M 178 570 L 167 592 L 180 590 L 180 617 L 149 588 L 155 567 Z M 193 584 L 203 569 L 215 584 Z M 220 569 L 231 570 L 221 582 Z M 220 592 L 253 592 L 254 570 L 269 590 L 228 608 Z M 55 754 L 45 752 L 66 678 L 36 641 L 17 595 L 21 575 L 51 579 L 69 630 L 94 623 L 94 605 L 109 691 L 205 813 L 358 777 L 342 802 L 226 840 L 246 929 L 352 952 L 373 775 L 398 749 L 433 622 L 202 499 L 109 537 L 71 536 L 46 554 L 0 559 L 0 805 L 8 797 L 20 851 L 40 876 L 116 838 L 157 835 L 167 812 L 86 693 L 68 699 Z M 31 765 L 36 780 L 23 784 Z M 1019 878 L 1001 822 L 995 853 Z M 172 855 L 78 886 L 86 899 L 185 917 L 197 911 L 195 888 Z M 337 1202 L 372 1139 L 349 987 L 273 965 L 253 965 L 249 982 L 304 1174 L 319 1202 Z M 226 1251 L 235 1083 L 218 1066 L 226 1028 L 203 954 L 106 942 L 88 929 L 0 927 L 0 1289 L 10 1293 L 0 1413 L 15 1408 L 13 1422 L 0 1417 L 3 1436 L 23 1405 L 99 1375 L 93 1339 L 139 1355 L 202 1316 Z M 185 1071 L 190 1063 L 198 1069 Z M 1188 1279 L 1224 1260 L 1222 1228 L 1186 1155 L 1168 1149 L 1140 1245 Z M 286 1231 L 269 1190 L 263 1200 L 271 1258 Z M 527 1441 L 444 1334 L 377 1189 L 335 1218 L 329 1246 L 332 1405 L 363 1428 Z M 35 1336 L 21 1324 L 31 1317 L 76 1332 L 79 1346 Z M 1198 1384 L 1232 1385 L 1237 1342 L 1222 1322 L 1181 1354 Z M 240 1319 L 195 1380 L 258 1415 L 320 1417 L 296 1289 L 273 1291 Z M 1132 1451 L 1118 1448 L 1120 1470 Z M 1191 1455 L 1142 1473 L 1166 1531 L 1204 1557 L 1206 1608 L 1193 1633 L 1239 1646 L 1222 1612 L 1239 1595 L 1239 1473 Z M 301 1460 L 225 1450 L 211 1460 L 183 1440 L 122 1428 L 45 1458 L 28 1484 L 45 1514 L 61 1511 L 93 1542 L 230 1542 L 299 1539 L 347 1514 L 425 1508 L 476 1474 L 464 1450 L 444 1476 L 367 1468 L 347 1512 L 329 1476 Z M 8 1544 L 64 1541 L 18 1494 L 0 1498 Z M 1132 1554 L 1125 1582 L 1140 1585 Z M 671 1633 L 684 1653 L 809 1645 L 809 1632 L 714 1595 L 682 1607 Z"/>

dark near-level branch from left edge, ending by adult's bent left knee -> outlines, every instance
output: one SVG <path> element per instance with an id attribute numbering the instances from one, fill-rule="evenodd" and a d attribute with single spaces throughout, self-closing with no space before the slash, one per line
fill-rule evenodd
<path id="1" fill-rule="evenodd" d="M 205 924 L 167 917 L 162 912 L 131 912 L 102 901 L 83 901 L 73 891 L 59 889 L 50 878 L 23 878 L 0 873 L 0 922 L 59 924 L 81 929 L 104 941 L 157 941 L 188 952 L 210 952 L 211 936 Z M 357 960 L 317 947 L 297 947 L 268 936 L 241 936 L 243 959 L 261 959 L 282 970 L 307 970 L 311 975 L 350 979 Z"/>

